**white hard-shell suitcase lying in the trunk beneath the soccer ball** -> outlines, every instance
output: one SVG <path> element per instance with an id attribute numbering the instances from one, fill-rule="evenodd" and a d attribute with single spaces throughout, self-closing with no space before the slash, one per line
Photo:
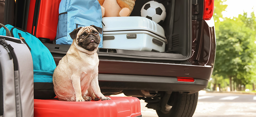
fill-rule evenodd
<path id="1" fill-rule="evenodd" d="M 103 48 L 164 52 L 164 29 L 145 17 L 104 17 Z"/>

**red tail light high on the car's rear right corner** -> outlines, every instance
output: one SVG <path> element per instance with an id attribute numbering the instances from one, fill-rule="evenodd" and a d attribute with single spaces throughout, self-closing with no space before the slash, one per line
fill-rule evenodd
<path id="1" fill-rule="evenodd" d="M 210 20 L 213 15 L 214 0 L 205 0 L 204 2 L 204 20 Z"/>

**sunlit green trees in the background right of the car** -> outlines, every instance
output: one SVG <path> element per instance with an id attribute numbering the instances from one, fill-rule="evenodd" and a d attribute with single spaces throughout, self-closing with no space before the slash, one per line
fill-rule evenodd
<path id="1" fill-rule="evenodd" d="M 214 1 L 216 59 L 207 88 L 221 91 L 255 90 L 256 18 L 254 12 L 223 18 L 226 0 Z M 242 10 L 242 9 L 241 9 Z"/>

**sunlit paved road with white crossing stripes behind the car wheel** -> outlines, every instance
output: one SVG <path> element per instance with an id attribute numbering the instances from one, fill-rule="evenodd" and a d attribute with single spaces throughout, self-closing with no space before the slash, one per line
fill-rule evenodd
<path id="1" fill-rule="evenodd" d="M 143 117 L 157 117 L 141 100 Z M 200 93 L 193 117 L 256 117 L 256 95 L 234 93 Z"/>

